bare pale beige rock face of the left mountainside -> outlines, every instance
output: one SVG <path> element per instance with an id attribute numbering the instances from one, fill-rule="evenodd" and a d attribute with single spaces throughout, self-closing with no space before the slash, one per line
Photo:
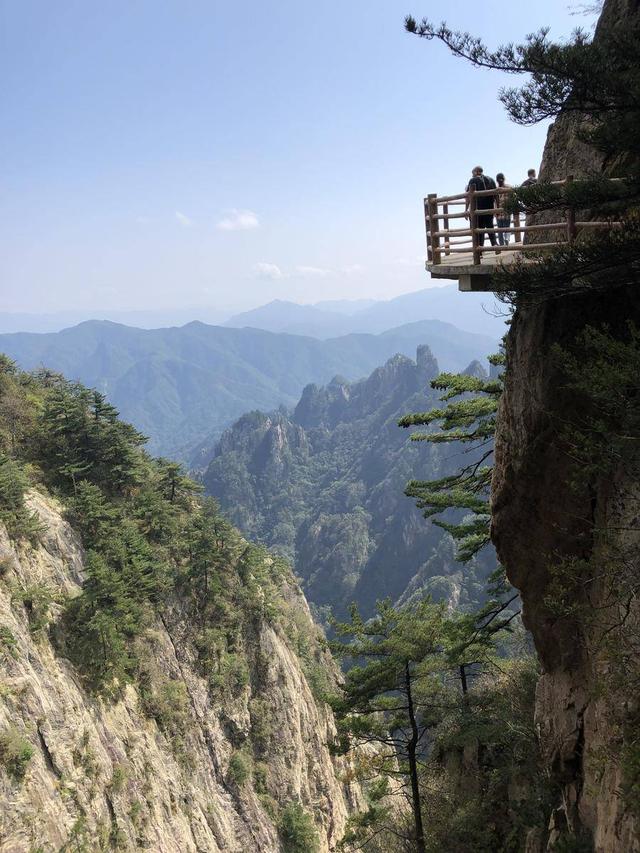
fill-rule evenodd
<path id="1" fill-rule="evenodd" d="M 0 525 L 0 849 L 275 853 L 276 813 L 291 803 L 313 818 L 319 849 L 332 849 L 357 790 L 339 781 L 332 716 L 285 632 L 254 620 L 237 650 L 246 683 L 217 702 L 190 658 L 189 624 L 170 609 L 144 639 L 164 686 L 155 718 L 132 685 L 116 701 L 92 697 L 55 648 L 59 602 L 83 576 L 80 542 L 52 499 L 28 502 L 46 528 L 38 545 L 15 546 Z M 282 594 L 311 632 L 299 590 Z M 23 780 L 7 772 L 7 732 L 32 751 Z"/>

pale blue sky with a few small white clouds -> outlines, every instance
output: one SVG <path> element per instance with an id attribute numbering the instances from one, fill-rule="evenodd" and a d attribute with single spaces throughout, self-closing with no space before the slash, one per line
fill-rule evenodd
<path id="1" fill-rule="evenodd" d="M 546 127 L 513 125 L 513 78 L 404 16 L 497 45 L 589 27 L 578 5 L 0 0 L 0 311 L 196 318 L 428 286 L 423 197 L 476 163 L 520 181 Z"/>

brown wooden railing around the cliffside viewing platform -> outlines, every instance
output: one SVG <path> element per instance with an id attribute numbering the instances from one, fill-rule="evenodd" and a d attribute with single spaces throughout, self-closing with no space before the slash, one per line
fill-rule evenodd
<path id="1" fill-rule="evenodd" d="M 615 180 L 615 179 L 614 179 Z M 573 176 L 565 178 L 563 181 L 553 181 L 553 184 L 562 185 L 573 181 Z M 591 228 L 612 228 L 618 223 L 613 221 L 607 222 L 578 222 L 576 221 L 575 211 L 567 208 L 563 214 L 562 221 L 531 223 L 524 212 L 517 211 L 512 217 L 509 214 L 504 214 L 502 218 L 509 218 L 513 224 L 498 227 L 492 225 L 490 228 L 478 227 L 478 217 L 491 216 L 498 217 L 504 213 L 501 207 L 491 207 L 483 209 L 478 207 L 478 199 L 482 197 L 494 197 L 500 202 L 501 197 L 506 198 L 510 193 L 509 188 L 491 189 L 491 190 L 470 190 L 469 192 L 460 193 L 459 195 L 449 195 L 439 197 L 436 193 L 431 193 L 424 200 L 424 216 L 427 231 L 427 257 L 429 264 L 441 264 L 442 258 L 450 255 L 464 254 L 471 255 L 471 262 L 480 264 L 484 252 L 539 252 L 544 249 L 555 249 L 566 243 L 572 243 L 578 232 L 583 229 Z M 461 207 L 462 210 L 455 208 Z M 453 211 L 451 208 L 454 208 Z M 560 213 L 558 211 L 558 213 Z M 559 217 L 558 217 L 559 218 Z M 451 228 L 451 220 L 468 219 L 469 224 L 463 228 Z M 442 223 L 442 224 L 441 224 Z M 526 234 L 536 232 L 551 232 L 549 237 L 543 242 L 525 242 Z M 495 234 L 496 242 L 498 234 L 513 234 L 515 242 L 507 245 L 493 246 L 490 243 L 482 245 L 481 235 Z M 464 263 L 463 259 L 460 259 Z"/>

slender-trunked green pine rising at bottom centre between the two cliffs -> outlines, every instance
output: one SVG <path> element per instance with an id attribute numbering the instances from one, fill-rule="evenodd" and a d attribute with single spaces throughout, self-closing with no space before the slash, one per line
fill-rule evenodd
<path id="1" fill-rule="evenodd" d="M 420 776 L 428 732 L 466 706 L 472 676 L 495 663 L 498 632 L 479 630 L 474 620 L 447 614 L 430 600 L 402 608 L 379 602 L 370 620 L 354 605 L 351 620 L 334 628 L 332 650 L 354 663 L 332 700 L 337 749 L 375 746 L 363 758 L 365 775 L 375 780 L 374 796 L 351 821 L 345 844 L 366 847 L 378 836 L 402 835 L 398 811 L 385 805 L 385 797 L 396 794 L 410 805 L 408 839 L 424 853 Z"/>

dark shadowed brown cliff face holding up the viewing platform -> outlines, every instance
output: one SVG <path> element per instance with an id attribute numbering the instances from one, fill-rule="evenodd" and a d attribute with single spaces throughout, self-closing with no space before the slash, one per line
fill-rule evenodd
<path id="1" fill-rule="evenodd" d="M 603 19 L 638 14 L 636 0 L 618 0 L 605 3 Z M 576 141 L 571 119 L 561 116 L 549 132 L 541 176 L 580 177 L 602 168 L 601 158 Z M 622 613 L 602 581 L 605 572 L 594 568 L 611 564 L 614 553 L 637 560 L 638 472 L 623 456 L 613 475 L 593 472 L 576 484 L 559 425 L 590 412 L 584 397 L 567 388 L 552 351 L 571 347 L 585 326 L 607 324 L 614 337 L 622 337 L 629 320 L 640 323 L 637 288 L 612 288 L 518 308 L 507 338 L 492 536 L 521 592 L 525 623 L 543 664 L 536 719 L 547 768 L 561 792 L 548 839 L 538 839 L 532 850 L 547 849 L 547 843 L 552 849 L 564 828 L 584 832 L 596 851 L 640 850 L 640 827 L 621 796 L 622 729 L 625 715 L 635 713 L 637 696 L 631 686 L 612 686 L 610 661 L 602 653 L 605 632 L 614 638 L 637 624 L 637 602 L 631 590 Z M 594 533 L 605 527 L 606 546 Z M 554 571 L 570 562 L 589 567 L 573 603 L 588 600 L 597 620 L 560 616 L 549 603 Z"/>

